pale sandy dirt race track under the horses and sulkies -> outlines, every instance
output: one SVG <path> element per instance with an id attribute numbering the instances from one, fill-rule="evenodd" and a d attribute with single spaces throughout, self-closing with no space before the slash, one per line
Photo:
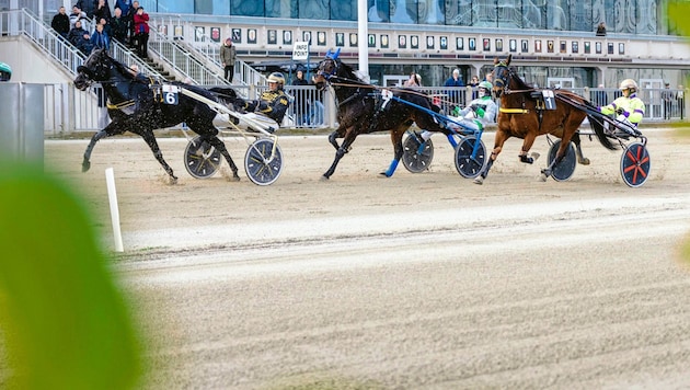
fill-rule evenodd
<path id="1" fill-rule="evenodd" d="M 434 138 L 428 172 L 363 136 L 330 181 L 325 136 L 285 136 L 281 176 L 196 180 L 184 139 L 160 139 L 180 181 L 140 139 L 46 141 L 46 167 L 84 194 L 113 248 L 113 167 L 125 253 L 115 269 L 151 341 L 151 389 L 681 389 L 690 387 L 690 138 L 649 137 L 640 188 L 621 152 L 540 182 L 506 142 L 484 185 Z M 686 130 L 687 131 L 687 130 Z M 242 165 L 246 144 L 227 138 Z M 487 148 L 493 134 L 484 136 Z M 227 165 L 225 165 L 227 169 Z"/>

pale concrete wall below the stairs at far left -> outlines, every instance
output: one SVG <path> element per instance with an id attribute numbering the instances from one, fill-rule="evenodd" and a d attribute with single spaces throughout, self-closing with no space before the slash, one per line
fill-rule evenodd
<path id="1" fill-rule="evenodd" d="M 0 37 L 0 61 L 12 67 L 13 82 L 64 83 L 72 77 L 24 36 Z"/>

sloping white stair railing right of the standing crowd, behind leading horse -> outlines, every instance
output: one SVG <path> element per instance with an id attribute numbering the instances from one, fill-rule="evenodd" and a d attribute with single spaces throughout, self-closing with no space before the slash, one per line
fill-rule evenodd
<path id="1" fill-rule="evenodd" d="M 222 77 L 205 67 L 198 59 L 156 28 L 150 30 L 149 37 L 149 50 L 153 51 L 161 61 L 168 64 L 176 72 L 189 78 L 192 82 L 197 84 L 228 84 Z"/>

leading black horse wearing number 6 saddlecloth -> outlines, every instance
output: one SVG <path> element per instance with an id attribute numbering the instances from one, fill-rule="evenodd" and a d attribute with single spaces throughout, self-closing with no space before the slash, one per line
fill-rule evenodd
<path id="1" fill-rule="evenodd" d="M 130 131 L 143 138 L 158 162 L 170 175 L 172 183 L 175 183 L 177 177 L 163 160 L 153 130 L 184 122 L 202 137 L 202 141 L 208 142 L 220 151 L 232 170 L 232 179 L 240 180 L 238 168 L 226 149 L 226 145 L 218 138 L 218 129 L 212 124 L 216 112 L 205 103 L 179 93 L 176 104 L 166 104 L 162 100 L 160 84 L 156 84 L 141 74 L 135 74 L 125 65 L 111 58 L 103 49 L 91 53 L 84 64 L 78 68 L 78 72 L 74 87 L 79 90 L 87 90 L 93 82 L 100 82 L 103 85 L 108 100 L 108 115 L 113 119 L 91 138 L 84 152 L 83 172 L 91 168 L 91 152 L 100 139 Z M 216 94 L 205 89 L 179 82 L 171 84 L 217 101 Z M 223 90 L 223 92 L 227 94 L 231 91 Z M 232 100 L 237 95 L 225 97 Z"/>

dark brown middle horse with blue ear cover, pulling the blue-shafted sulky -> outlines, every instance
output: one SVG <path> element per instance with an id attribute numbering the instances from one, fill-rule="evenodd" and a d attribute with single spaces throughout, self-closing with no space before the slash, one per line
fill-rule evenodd
<path id="1" fill-rule="evenodd" d="M 326 53 L 325 59 L 319 62 L 314 79 L 319 90 L 324 90 L 327 84 L 333 87 L 337 104 L 338 127 L 329 135 L 329 141 L 336 150 L 335 159 L 322 179 L 331 177 L 338 161 L 360 134 L 390 131 L 394 156 L 389 169 L 381 172 L 386 177 L 395 172 L 404 153 L 403 135 L 413 123 L 422 129 L 441 131 L 446 137 L 452 137 L 452 133 L 442 128 L 430 114 L 440 108 L 433 105 L 426 94 L 411 89 L 395 89 L 394 92 L 390 91 L 392 94 L 387 94 L 388 91 L 376 93 L 378 88 L 363 81 L 350 66 L 337 58 L 338 54 L 340 49 Z M 341 145 L 337 138 L 343 138 Z"/>

